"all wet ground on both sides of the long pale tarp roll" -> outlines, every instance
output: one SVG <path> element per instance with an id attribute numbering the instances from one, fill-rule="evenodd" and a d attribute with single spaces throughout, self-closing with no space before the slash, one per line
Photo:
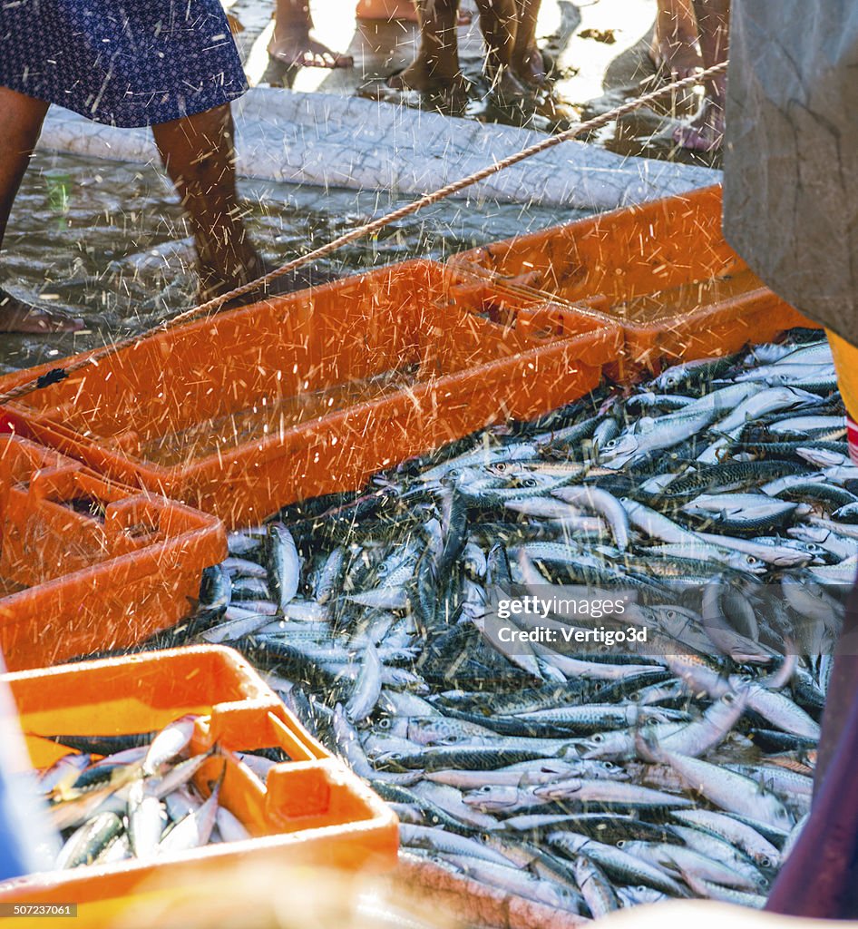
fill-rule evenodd
<path id="1" fill-rule="evenodd" d="M 355 66 L 287 72 L 272 64 L 266 51 L 273 0 L 227 0 L 250 83 L 425 105 L 415 94 L 397 95 L 383 86 L 384 75 L 413 57 L 416 26 L 357 22 L 354 2 L 318 0 L 313 13 L 318 39 L 348 51 Z M 550 131 L 649 89 L 654 69 L 647 49 L 655 8 L 655 0 L 544 0 L 539 45 L 554 59 L 559 77 L 551 95 L 513 110 L 500 110 L 485 99 L 482 40 L 474 17 L 471 26 L 459 30 L 462 69 L 472 82 L 466 115 Z M 682 115 L 694 107 L 695 98 L 673 103 L 674 114 Z M 717 164 L 711 156 L 676 150 L 670 141 L 673 125 L 668 113 L 643 111 L 622 125 L 605 126 L 591 140 L 627 154 Z M 405 202 L 375 190 L 356 193 L 258 181 L 244 182 L 241 196 L 254 240 L 272 265 Z M 416 255 L 444 258 L 575 216 L 514 205 L 439 203 L 377 239 L 344 248 L 320 269 L 347 273 Z M 88 329 L 73 336 L 5 336 L 0 365 L 20 368 L 101 345 L 142 332 L 189 307 L 195 280 L 189 244 L 181 242 L 186 236 L 172 187 L 154 167 L 39 153 L 15 204 L 0 254 L 0 280 L 20 296 L 67 307 L 84 317 Z"/>

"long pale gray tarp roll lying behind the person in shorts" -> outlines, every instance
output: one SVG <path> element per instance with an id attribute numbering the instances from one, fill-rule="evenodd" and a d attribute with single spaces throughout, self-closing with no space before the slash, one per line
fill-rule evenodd
<path id="1" fill-rule="evenodd" d="M 233 111 L 237 168 L 243 177 L 395 190 L 406 196 L 436 190 L 544 138 L 535 130 L 512 125 L 277 87 L 254 87 L 234 104 Z M 90 123 L 59 107 L 48 113 L 39 147 L 158 162 L 148 129 Z M 561 210 L 613 210 L 719 179 L 719 172 L 708 168 L 627 158 L 570 141 L 507 168 L 460 196 L 539 203 Z"/>

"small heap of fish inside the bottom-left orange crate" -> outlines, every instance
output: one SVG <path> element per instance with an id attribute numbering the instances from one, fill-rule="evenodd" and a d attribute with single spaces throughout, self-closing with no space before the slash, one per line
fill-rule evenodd
<path id="1" fill-rule="evenodd" d="M 70 750 L 38 781 L 65 840 L 56 869 L 149 861 L 250 838 L 219 803 L 220 781 L 207 797 L 192 781 L 215 753 L 189 754 L 195 719 L 183 716 L 158 733 L 133 736 L 38 737 Z"/>

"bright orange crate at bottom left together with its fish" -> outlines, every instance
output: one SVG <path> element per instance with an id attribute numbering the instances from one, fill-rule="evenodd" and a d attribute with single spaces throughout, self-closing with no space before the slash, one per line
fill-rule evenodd
<path id="1" fill-rule="evenodd" d="M 102 925 L 107 899 L 122 909 L 167 880 L 240 863 L 383 871 L 396 860 L 394 815 L 231 649 L 5 680 L 63 844 L 53 870 L 0 882 L 4 903 L 74 900 Z"/>

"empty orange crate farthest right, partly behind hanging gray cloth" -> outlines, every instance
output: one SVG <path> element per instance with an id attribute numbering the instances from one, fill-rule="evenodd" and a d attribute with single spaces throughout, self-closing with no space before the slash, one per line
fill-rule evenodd
<path id="1" fill-rule="evenodd" d="M 453 255 L 466 285 L 604 313 L 632 369 L 737 351 L 813 326 L 768 290 L 721 234 L 721 187 L 543 229 Z"/>

